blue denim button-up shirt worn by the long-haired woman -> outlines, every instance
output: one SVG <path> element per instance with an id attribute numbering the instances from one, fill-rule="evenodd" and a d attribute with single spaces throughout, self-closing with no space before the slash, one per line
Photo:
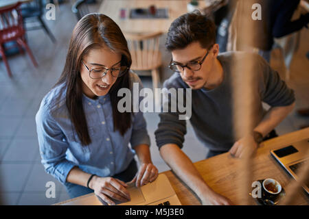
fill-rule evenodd
<path id="1" fill-rule="evenodd" d="M 129 74 L 130 83 L 138 82 L 141 86 L 139 77 Z M 83 95 L 91 144 L 82 146 L 69 118 L 65 96 L 64 84 L 53 88 L 43 98 L 36 114 L 41 163 L 61 183 L 66 183 L 74 166 L 100 177 L 113 176 L 126 170 L 135 156 L 135 146 L 150 145 L 142 112 L 133 114 L 133 123 L 124 136 L 113 131 L 113 111 L 110 96 L 106 94 L 98 99 Z"/>

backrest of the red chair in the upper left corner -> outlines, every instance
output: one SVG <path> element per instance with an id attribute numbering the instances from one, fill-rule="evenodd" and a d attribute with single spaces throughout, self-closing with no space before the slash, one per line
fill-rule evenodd
<path id="1" fill-rule="evenodd" d="M 8 42 L 25 34 L 20 4 L 16 3 L 8 8 L 0 9 L 0 43 Z"/>

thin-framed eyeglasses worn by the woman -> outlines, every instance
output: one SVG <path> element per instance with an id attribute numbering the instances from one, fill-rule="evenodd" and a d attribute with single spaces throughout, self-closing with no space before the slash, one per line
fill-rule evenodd
<path id="1" fill-rule="evenodd" d="M 121 62 L 121 61 L 120 61 Z M 116 64 L 119 64 L 120 62 L 117 62 Z M 82 61 L 82 64 L 84 64 L 84 61 Z M 89 69 L 86 64 L 84 64 L 85 68 L 87 68 L 89 72 L 89 77 L 92 79 L 99 79 L 101 77 L 104 77 L 107 74 L 107 71 L 111 71 L 111 75 L 113 77 L 122 77 L 127 71 L 127 66 L 120 66 L 119 68 L 105 68 L 104 66 L 100 68 L 91 68 Z"/>

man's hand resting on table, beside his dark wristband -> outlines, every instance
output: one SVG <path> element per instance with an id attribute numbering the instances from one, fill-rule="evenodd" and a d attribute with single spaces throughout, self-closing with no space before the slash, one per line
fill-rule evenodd
<path id="1" fill-rule="evenodd" d="M 229 153 L 234 157 L 242 158 L 245 153 L 248 153 L 250 156 L 253 155 L 256 149 L 258 149 L 258 143 L 255 142 L 252 135 L 247 135 L 235 142 L 229 150 Z"/>

